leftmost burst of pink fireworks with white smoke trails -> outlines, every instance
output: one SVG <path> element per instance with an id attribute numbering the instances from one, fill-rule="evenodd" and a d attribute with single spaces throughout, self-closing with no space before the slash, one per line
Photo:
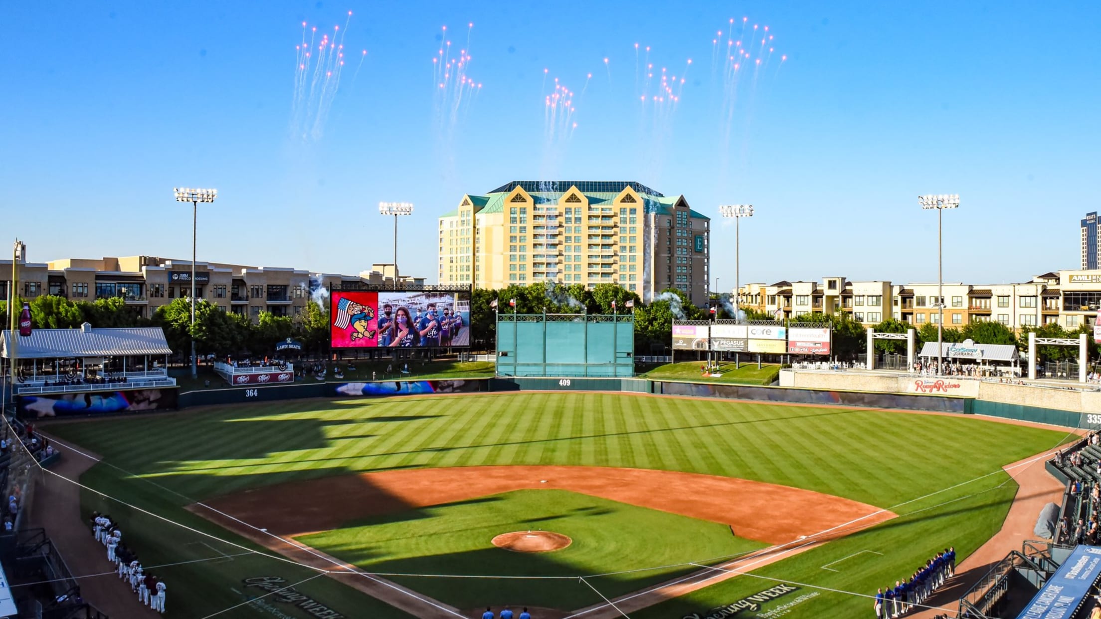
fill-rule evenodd
<path id="1" fill-rule="evenodd" d="M 302 22 L 302 42 L 294 46 L 294 95 L 291 100 L 291 132 L 298 139 L 307 141 L 321 137 L 345 67 L 356 63 L 358 74 L 367 58 L 367 50 L 353 56 L 345 53 L 350 23 L 351 11 L 348 11 L 344 28 L 335 25 L 331 32 L 318 31 L 316 25 Z"/>

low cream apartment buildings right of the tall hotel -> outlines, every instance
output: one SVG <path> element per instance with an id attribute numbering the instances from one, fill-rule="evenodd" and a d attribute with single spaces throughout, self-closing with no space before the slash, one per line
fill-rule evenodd
<path id="1" fill-rule="evenodd" d="M 939 319 L 937 289 L 936 282 L 892 284 L 824 278 L 821 283 L 745 284 L 740 303 L 785 318 L 844 312 L 866 326 L 894 317 L 920 328 Z M 1014 330 L 1049 323 L 1073 330 L 1095 324 L 1101 307 L 1101 270 L 1057 271 L 1009 284 L 946 282 L 941 291 L 946 327 L 994 321 Z"/>

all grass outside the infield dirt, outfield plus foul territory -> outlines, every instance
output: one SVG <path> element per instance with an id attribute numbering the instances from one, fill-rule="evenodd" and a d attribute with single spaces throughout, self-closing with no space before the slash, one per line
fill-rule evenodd
<path id="1" fill-rule="evenodd" d="M 1000 467 L 1070 438 L 1062 431 L 962 416 L 607 393 L 290 401 L 53 424 L 48 430 L 106 458 L 84 477 L 92 488 L 227 540 L 233 537 L 182 508 L 263 485 L 391 468 L 618 466 L 817 490 L 891 509 L 901 518 L 763 568 L 760 575 L 860 593 L 902 578 L 937 549 L 955 545 L 960 560 L 966 557 L 999 529 L 1016 490 Z M 90 498 L 86 508 L 121 512 L 117 504 Z M 143 515 L 127 514 L 121 522 L 126 541 L 165 563 L 186 561 L 194 551 L 184 554 L 182 544 L 204 541 Z M 661 536 L 648 541 L 664 543 Z M 230 554 L 217 542 L 207 543 Z M 821 568 L 858 552 L 837 572 Z M 624 556 L 622 566 L 646 567 L 647 561 Z M 248 593 L 241 589 L 242 578 L 277 576 L 292 583 L 308 576 L 268 558 L 172 569 L 179 576 L 173 579 L 176 595 L 170 606 L 175 601 L 177 616 L 184 617 L 205 617 L 236 604 Z M 591 582 L 614 588 L 613 580 Z M 682 617 L 774 584 L 739 577 L 640 616 Z M 302 590 L 327 596 L 338 609 L 361 604 L 371 617 L 403 617 L 361 601 L 362 595 L 327 578 L 310 580 Z M 822 593 L 786 617 L 855 617 L 869 607 L 865 598 Z M 307 617 L 288 610 L 290 605 L 280 608 Z"/>

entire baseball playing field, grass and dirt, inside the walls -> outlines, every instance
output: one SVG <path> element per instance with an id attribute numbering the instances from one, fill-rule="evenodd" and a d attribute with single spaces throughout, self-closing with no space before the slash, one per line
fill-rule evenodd
<path id="1" fill-rule="evenodd" d="M 768 589 L 741 616 L 861 616 L 871 602 L 851 594 L 949 545 L 962 561 L 998 531 L 1017 489 L 1003 465 L 1071 438 L 967 416 L 543 392 L 46 431 L 101 458 L 81 508 L 120 523 L 170 584 L 171 615 L 303 619 L 505 604 L 535 619 L 679 619 Z"/>

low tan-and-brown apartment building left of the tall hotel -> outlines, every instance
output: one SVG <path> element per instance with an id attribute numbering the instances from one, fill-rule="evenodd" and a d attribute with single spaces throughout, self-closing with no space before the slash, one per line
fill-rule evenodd
<path id="1" fill-rule="evenodd" d="M 26 248 L 17 248 L 17 294 L 34 298 L 43 294 L 70 301 L 120 297 L 139 316 L 151 317 L 156 308 L 192 293 L 192 263 L 153 256 L 121 258 L 66 258 L 30 262 Z M 0 298 L 8 298 L 11 260 L 0 260 Z M 389 273 L 389 276 L 384 273 Z M 250 267 L 220 262 L 195 263 L 195 295 L 226 312 L 258 319 L 261 312 L 297 316 L 310 302 L 313 287 L 357 287 L 393 282 L 392 264 L 374 264 L 359 275 L 310 273 L 303 269 Z M 406 284 L 423 284 L 422 278 L 400 278 Z"/>

